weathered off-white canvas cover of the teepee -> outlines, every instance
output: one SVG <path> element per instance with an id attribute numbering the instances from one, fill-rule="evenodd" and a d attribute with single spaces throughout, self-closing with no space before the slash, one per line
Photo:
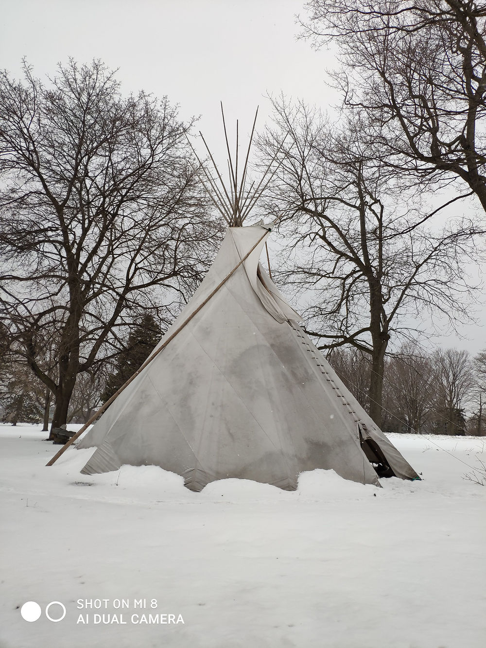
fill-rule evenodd
<path id="1" fill-rule="evenodd" d="M 166 339 L 262 234 L 227 230 Z M 378 483 L 370 460 L 385 459 L 396 476 L 417 478 L 297 324 L 259 266 L 263 246 L 87 432 L 78 448 L 97 450 L 84 474 L 154 464 L 194 491 L 228 477 L 295 489 L 299 473 L 315 468 Z"/>

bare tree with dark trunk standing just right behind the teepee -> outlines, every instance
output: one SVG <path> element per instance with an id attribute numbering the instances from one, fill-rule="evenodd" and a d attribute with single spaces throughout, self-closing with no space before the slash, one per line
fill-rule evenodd
<path id="1" fill-rule="evenodd" d="M 288 235 L 281 278 L 301 301 L 310 288 L 307 332 L 319 349 L 369 354 L 379 425 L 389 340 L 410 334 L 404 316 L 441 312 L 452 325 L 469 316 L 463 259 L 476 229 L 466 218 L 435 224 L 438 210 L 425 211 L 378 165 L 353 115 L 336 130 L 303 104 L 274 106 L 277 128 L 260 144 L 268 156 L 281 146 L 270 205 Z"/>

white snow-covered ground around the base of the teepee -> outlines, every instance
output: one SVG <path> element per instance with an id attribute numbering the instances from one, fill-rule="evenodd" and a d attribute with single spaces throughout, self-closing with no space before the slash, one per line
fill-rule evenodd
<path id="1" fill-rule="evenodd" d="M 1 648 L 486 645 L 486 487 L 463 479 L 484 439 L 390 435 L 423 480 L 382 489 L 316 470 L 195 494 L 157 467 L 81 475 L 91 450 L 47 468 L 44 436 L 0 426 Z"/>

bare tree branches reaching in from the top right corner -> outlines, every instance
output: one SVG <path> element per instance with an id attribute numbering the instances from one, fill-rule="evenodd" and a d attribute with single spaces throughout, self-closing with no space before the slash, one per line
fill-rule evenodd
<path id="1" fill-rule="evenodd" d="M 417 189 L 460 179 L 486 211 L 486 5 L 312 0 L 303 36 L 338 48 L 334 80 L 380 163 Z M 461 191 L 458 188 L 458 192 Z"/>

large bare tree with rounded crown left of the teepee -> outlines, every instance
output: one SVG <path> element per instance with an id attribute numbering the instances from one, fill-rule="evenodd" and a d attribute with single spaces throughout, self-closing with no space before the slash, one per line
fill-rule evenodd
<path id="1" fill-rule="evenodd" d="M 77 376 L 117 353 L 119 327 L 144 309 L 167 321 L 192 292 L 218 225 L 190 124 L 167 98 L 122 97 L 100 62 L 59 65 L 47 85 L 23 73 L 0 73 L 1 318 L 54 395 L 57 428 Z M 49 374 L 41 348 L 53 337 Z"/>

